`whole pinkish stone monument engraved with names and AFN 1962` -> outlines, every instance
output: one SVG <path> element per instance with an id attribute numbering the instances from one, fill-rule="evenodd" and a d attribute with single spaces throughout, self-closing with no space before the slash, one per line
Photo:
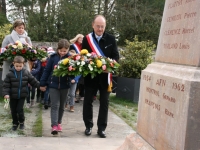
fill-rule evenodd
<path id="1" fill-rule="evenodd" d="M 200 149 L 200 0 L 166 0 L 155 62 L 142 71 L 137 133 L 156 150 Z"/>

